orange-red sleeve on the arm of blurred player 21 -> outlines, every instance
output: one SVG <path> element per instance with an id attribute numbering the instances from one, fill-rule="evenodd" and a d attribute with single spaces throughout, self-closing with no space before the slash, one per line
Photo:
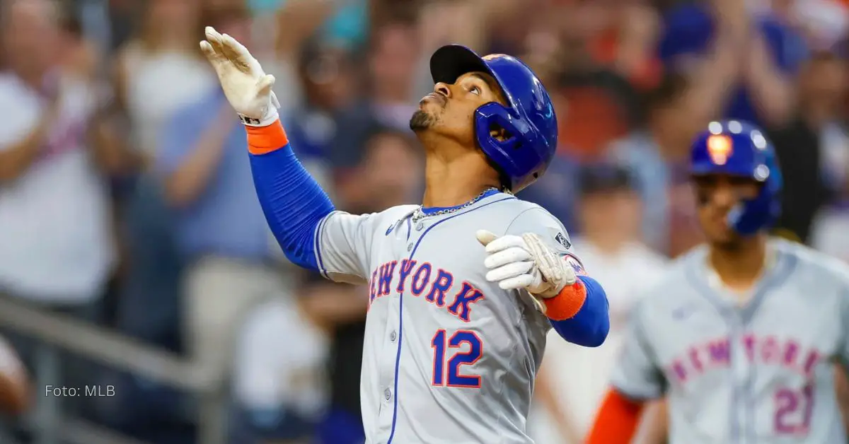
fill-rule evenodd
<path id="1" fill-rule="evenodd" d="M 585 444 L 629 444 L 637 433 L 642 410 L 641 402 L 608 391 Z"/>

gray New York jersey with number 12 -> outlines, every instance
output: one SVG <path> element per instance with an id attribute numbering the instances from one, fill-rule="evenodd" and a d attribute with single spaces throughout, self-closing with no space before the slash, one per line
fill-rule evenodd
<path id="1" fill-rule="evenodd" d="M 532 442 L 526 417 L 551 325 L 530 295 L 486 281 L 475 232 L 537 233 L 567 255 L 565 229 L 509 194 L 412 222 L 416 208 L 336 211 L 316 232 L 322 273 L 370 289 L 360 389 L 367 442 Z"/>

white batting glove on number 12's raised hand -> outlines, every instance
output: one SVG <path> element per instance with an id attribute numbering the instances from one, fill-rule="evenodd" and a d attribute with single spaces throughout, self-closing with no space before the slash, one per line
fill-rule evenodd
<path id="1" fill-rule="evenodd" d="M 271 88 L 274 76 L 267 75 L 244 45 L 227 34 L 206 26 L 203 51 L 218 74 L 221 87 L 239 119 L 248 126 L 268 126 L 278 120 L 280 103 Z"/>

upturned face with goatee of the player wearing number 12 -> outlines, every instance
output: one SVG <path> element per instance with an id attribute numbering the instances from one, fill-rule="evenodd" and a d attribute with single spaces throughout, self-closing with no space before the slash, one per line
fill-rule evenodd
<path id="1" fill-rule="evenodd" d="M 498 83 L 488 74 L 469 72 L 459 76 L 453 84 L 436 83 L 433 93 L 419 101 L 419 110 L 410 118 L 410 129 L 435 132 L 474 147 L 475 110 L 490 102 L 507 103 Z"/>

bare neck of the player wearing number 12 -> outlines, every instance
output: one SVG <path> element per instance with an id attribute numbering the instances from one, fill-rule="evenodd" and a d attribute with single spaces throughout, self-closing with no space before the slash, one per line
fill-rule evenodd
<path id="1" fill-rule="evenodd" d="M 426 208 L 463 205 L 486 188 L 498 188 L 498 173 L 486 163 L 482 153 L 429 151 L 424 161 Z"/>

